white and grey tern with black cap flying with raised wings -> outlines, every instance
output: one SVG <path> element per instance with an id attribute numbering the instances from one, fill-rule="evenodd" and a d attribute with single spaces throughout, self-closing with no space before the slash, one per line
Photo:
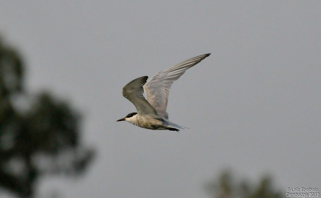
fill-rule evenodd
<path id="1" fill-rule="evenodd" d="M 116 122 L 127 121 L 138 127 L 151 130 L 179 131 L 179 129 L 188 129 L 168 120 L 166 108 L 169 89 L 173 82 L 182 76 L 188 68 L 193 67 L 209 55 L 211 54 L 189 58 L 160 71 L 148 82 L 148 76 L 142 76 L 130 81 L 123 87 L 123 96 L 134 104 L 137 113 L 129 113 L 126 117 Z M 143 96 L 144 92 L 146 99 Z"/>

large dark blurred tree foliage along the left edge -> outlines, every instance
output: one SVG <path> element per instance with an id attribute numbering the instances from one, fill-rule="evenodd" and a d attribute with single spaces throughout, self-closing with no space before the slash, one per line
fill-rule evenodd
<path id="1" fill-rule="evenodd" d="M 79 113 L 48 92 L 26 93 L 23 71 L 0 39 L 0 187 L 32 197 L 37 178 L 80 174 L 94 152 L 80 142 Z"/>

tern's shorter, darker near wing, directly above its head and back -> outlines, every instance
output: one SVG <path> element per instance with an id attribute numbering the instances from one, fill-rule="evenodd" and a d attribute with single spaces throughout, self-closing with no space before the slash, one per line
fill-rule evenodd
<path id="1" fill-rule="evenodd" d="M 123 87 L 123 96 L 134 104 L 138 114 L 159 118 L 155 108 L 143 96 L 143 85 L 146 83 L 147 78 L 148 76 L 142 76 L 130 81 Z"/>

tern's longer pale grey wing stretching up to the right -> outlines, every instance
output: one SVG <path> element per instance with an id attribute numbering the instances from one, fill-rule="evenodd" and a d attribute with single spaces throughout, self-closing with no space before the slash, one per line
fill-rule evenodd
<path id="1" fill-rule="evenodd" d="M 168 119 L 166 108 L 169 89 L 173 82 L 182 76 L 188 68 L 193 67 L 209 55 L 210 54 L 203 54 L 196 56 L 169 67 L 153 76 L 145 84 L 144 90 L 147 100 L 156 109 L 160 117 Z"/>

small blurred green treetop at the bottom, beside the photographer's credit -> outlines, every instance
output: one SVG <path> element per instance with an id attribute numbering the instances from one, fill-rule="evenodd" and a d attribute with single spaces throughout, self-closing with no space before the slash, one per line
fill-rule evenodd
<path id="1" fill-rule="evenodd" d="M 263 176 L 258 184 L 248 180 L 237 181 L 230 171 L 225 170 L 217 180 L 205 185 L 211 198 L 282 198 L 273 186 L 271 177 Z"/>

